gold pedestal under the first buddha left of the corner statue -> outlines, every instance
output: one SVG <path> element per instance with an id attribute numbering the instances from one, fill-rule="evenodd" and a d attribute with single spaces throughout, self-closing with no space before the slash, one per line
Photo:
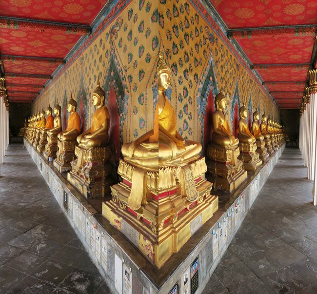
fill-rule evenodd
<path id="1" fill-rule="evenodd" d="M 75 147 L 77 159 L 71 162 L 68 181 L 86 198 L 100 198 L 110 193 L 113 184 L 110 146 L 84 149 Z"/>

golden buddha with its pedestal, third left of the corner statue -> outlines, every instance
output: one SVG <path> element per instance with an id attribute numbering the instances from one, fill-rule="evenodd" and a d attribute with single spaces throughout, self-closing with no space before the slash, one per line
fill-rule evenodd
<path id="1" fill-rule="evenodd" d="M 49 161 L 52 161 L 54 158 L 56 158 L 56 153 L 58 150 L 57 135 L 62 131 L 60 111 L 61 107 L 59 106 L 59 101 L 57 101 L 57 104 L 54 106 L 54 126 L 47 130 L 47 143 L 43 152 L 43 156 Z"/>

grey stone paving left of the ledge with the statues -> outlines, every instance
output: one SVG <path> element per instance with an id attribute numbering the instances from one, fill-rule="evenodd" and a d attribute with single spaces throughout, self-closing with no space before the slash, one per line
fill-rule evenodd
<path id="1" fill-rule="evenodd" d="M 0 165 L 0 294 L 108 294 L 22 145 Z"/>

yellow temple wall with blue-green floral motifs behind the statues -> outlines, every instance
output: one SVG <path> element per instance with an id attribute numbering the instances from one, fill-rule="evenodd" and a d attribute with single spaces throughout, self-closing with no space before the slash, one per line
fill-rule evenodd
<path id="1" fill-rule="evenodd" d="M 127 1 L 117 6 L 123 2 Z M 198 0 L 133 0 L 113 15 L 42 91 L 33 103 L 33 113 L 48 103 L 55 105 L 58 99 L 65 128 L 72 91 L 82 131 L 89 128 L 95 110 L 91 94 L 99 75 L 119 145 L 134 140 L 153 127 L 161 43 L 174 73 L 167 96 L 184 138 L 209 140 L 214 97 L 220 88 L 228 98 L 227 118 L 233 131 L 242 104 L 248 107 L 250 120 L 255 110 L 279 119 L 273 101 Z"/>

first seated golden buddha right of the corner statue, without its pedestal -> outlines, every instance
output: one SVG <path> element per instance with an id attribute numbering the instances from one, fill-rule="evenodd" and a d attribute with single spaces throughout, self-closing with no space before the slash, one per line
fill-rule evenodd
<path id="1" fill-rule="evenodd" d="M 227 98 L 222 92 L 216 95 L 215 103 L 216 111 L 212 114 L 212 142 L 223 147 L 237 146 L 239 140 L 232 135 L 229 123 L 224 114 L 227 108 Z"/>

